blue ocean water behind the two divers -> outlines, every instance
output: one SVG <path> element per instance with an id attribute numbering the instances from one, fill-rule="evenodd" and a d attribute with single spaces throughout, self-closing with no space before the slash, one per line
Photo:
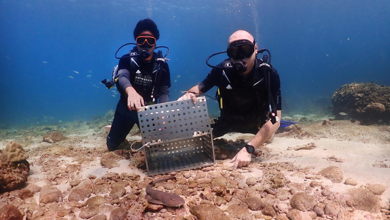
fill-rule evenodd
<path id="1" fill-rule="evenodd" d="M 158 45 L 170 48 L 171 101 L 201 82 L 210 71 L 206 58 L 244 29 L 271 51 L 283 112 L 315 111 L 344 84 L 390 85 L 389 14 L 385 0 L 2 0 L 0 124 L 90 120 L 115 110 L 119 94 L 101 80 L 147 17 L 160 30 Z M 215 101 L 208 105 L 217 114 Z"/>

